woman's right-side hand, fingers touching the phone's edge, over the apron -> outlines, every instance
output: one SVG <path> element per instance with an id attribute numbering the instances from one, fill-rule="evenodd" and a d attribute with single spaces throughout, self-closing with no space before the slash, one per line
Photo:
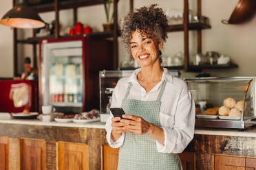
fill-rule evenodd
<path id="1" fill-rule="evenodd" d="M 145 121 L 142 117 L 131 114 L 123 114 L 120 123 L 124 124 L 122 130 L 125 132 L 134 132 L 135 134 L 145 134 L 151 130 L 152 124 Z"/>

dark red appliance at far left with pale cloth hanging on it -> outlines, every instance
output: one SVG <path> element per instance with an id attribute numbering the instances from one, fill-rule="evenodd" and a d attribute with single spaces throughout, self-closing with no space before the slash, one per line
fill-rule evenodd
<path id="1" fill-rule="evenodd" d="M 1 80 L 0 112 L 38 112 L 38 81 Z"/>

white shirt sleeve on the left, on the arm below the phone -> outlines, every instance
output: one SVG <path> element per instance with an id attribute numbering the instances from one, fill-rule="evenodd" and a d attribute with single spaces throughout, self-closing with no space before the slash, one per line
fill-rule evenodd
<path id="1" fill-rule="evenodd" d="M 111 101 L 111 108 L 119 108 L 121 106 L 121 100 L 118 99 L 118 95 L 116 95 L 118 92 L 118 84 L 116 85 L 116 88 L 114 88 L 114 92 L 112 95 L 112 101 Z M 107 137 L 107 142 L 111 147 L 118 148 L 122 146 L 123 141 L 125 140 L 125 133 L 122 133 L 122 136 L 118 138 L 118 140 L 113 141 L 111 138 L 111 132 L 112 132 L 112 127 L 111 127 L 111 119 L 113 118 L 113 114 L 110 112 L 110 117 L 107 119 L 105 129 L 107 131 L 106 137 Z"/>

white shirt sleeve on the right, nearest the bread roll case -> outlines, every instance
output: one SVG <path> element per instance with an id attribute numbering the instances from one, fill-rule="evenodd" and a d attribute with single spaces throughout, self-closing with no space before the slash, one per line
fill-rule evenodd
<path id="1" fill-rule="evenodd" d="M 195 130 L 195 104 L 187 87 L 180 94 L 173 127 L 162 127 L 162 129 L 164 130 L 164 145 L 156 141 L 157 149 L 162 153 L 182 153 L 193 139 Z"/>

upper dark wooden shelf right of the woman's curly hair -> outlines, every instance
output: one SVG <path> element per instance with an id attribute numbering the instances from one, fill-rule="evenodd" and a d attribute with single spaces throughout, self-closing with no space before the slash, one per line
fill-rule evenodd
<path id="1" fill-rule="evenodd" d="M 210 29 L 211 25 L 206 23 L 189 23 L 189 30 L 200 30 L 200 29 Z M 167 32 L 182 32 L 184 31 L 184 25 L 169 25 Z"/>

